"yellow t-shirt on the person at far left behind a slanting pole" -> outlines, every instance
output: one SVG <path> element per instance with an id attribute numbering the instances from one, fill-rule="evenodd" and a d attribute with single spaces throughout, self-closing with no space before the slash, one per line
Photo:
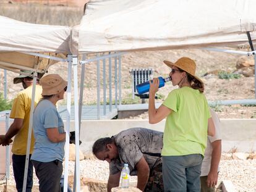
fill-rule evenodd
<path id="1" fill-rule="evenodd" d="M 12 144 L 12 153 L 16 155 L 25 155 L 27 151 L 27 139 L 28 128 L 30 118 L 30 104 L 32 99 L 33 86 L 29 86 L 20 93 L 14 99 L 12 104 L 12 111 L 10 114 L 11 119 L 19 118 L 23 119 L 23 125 L 20 131 L 15 135 L 14 142 Z M 41 99 L 42 88 L 40 85 L 36 85 L 35 91 L 35 106 Z M 30 154 L 32 154 L 34 148 L 35 138 L 32 132 Z"/>

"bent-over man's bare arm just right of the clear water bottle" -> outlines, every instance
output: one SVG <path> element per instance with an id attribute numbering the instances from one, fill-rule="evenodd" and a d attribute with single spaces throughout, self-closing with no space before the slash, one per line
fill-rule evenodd
<path id="1" fill-rule="evenodd" d="M 137 188 L 139 188 L 139 190 L 144 191 L 145 186 L 148 183 L 148 177 L 150 174 L 148 163 L 144 157 L 142 157 L 140 161 L 136 164 L 136 168 L 137 168 L 137 176 L 138 176 Z"/>

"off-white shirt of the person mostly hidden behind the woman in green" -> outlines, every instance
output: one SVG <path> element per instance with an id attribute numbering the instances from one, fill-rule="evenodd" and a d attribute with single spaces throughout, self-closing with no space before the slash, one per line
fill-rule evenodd
<path id="1" fill-rule="evenodd" d="M 211 118 L 213 119 L 213 123 L 215 125 L 215 136 L 208 136 L 207 137 L 207 148 L 205 149 L 205 157 L 203 158 L 202 162 L 202 168 L 201 168 L 201 177 L 207 176 L 210 172 L 211 168 L 211 152 L 213 151 L 213 148 L 211 146 L 211 143 L 213 143 L 216 140 L 221 140 L 221 129 L 220 129 L 220 119 L 218 115 L 216 114 L 213 109 L 210 109 L 211 112 Z M 218 171 L 219 171 L 218 167 Z"/>

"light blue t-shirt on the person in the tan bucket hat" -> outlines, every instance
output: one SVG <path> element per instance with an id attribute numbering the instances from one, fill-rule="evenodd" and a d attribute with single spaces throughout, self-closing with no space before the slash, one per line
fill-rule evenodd
<path id="1" fill-rule="evenodd" d="M 65 141 L 53 143 L 49 140 L 46 129 L 58 127 L 64 133 L 64 123 L 56 106 L 48 99 L 38 103 L 33 114 L 33 132 L 35 146 L 31 159 L 40 162 L 63 161 Z"/>

